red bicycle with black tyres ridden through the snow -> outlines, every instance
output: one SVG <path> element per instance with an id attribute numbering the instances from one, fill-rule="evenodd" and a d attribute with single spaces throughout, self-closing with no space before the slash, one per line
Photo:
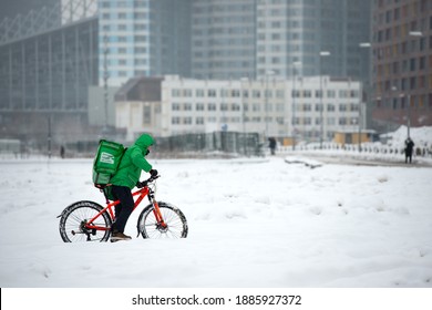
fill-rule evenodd
<path id="1" fill-rule="evenodd" d="M 147 196 L 147 205 L 138 217 L 136 237 L 143 238 L 186 238 L 187 221 L 184 214 L 171 204 L 156 202 L 155 180 L 160 176 L 151 177 L 137 185 L 138 190 L 133 193 L 137 196 L 134 210 Z M 66 207 L 60 218 L 60 236 L 64 242 L 80 241 L 107 241 L 111 236 L 111 226 L 115 220 L 114 206 L 120 200 L 107 202 L 106 207 L 97 203 L 82 200 Z"/>

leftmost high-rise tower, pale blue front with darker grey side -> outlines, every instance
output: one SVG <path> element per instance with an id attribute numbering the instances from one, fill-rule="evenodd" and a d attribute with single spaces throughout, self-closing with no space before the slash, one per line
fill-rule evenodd
<path id="1" fill-rule="evenodd" d="M 191 0 L 100 0 L 100 84 L 191 71 Z"/>

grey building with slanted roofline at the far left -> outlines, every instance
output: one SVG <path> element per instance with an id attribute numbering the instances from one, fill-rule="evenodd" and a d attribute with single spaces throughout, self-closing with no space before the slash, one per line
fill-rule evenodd
<path id="1" fill-rule="evenodd" d="M 88 91 L 97 84 L 97 19 L 61 24 L 59 6 L 1 28 L 0 135 L 39 149 L 48 136 L 59 145 L 89 133 Z"/>

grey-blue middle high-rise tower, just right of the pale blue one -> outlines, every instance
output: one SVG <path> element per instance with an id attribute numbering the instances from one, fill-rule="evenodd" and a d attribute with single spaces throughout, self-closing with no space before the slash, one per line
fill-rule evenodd
<path id="1" fill-rule="evenodd" d="M 195 78 L 256 78 L 256 2 L 194 0 L 192 73 Z"/>

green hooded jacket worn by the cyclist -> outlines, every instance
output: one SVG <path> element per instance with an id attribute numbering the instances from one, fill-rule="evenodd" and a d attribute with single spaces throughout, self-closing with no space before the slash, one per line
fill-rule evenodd
<path id="1" fill-rule="evenodd" d="M 154 140 L 148 134 L 140 136 L 135 144 L 126 149 L 122 162 L 119 165 L 116 174 L 111 178 L 110 183 L 117 186 L 126 186 L 134 188 L 140 180 L 141 172 L 148 173 L 152 165 L 145 159 L 147 148 L 153 144 Z"/>

